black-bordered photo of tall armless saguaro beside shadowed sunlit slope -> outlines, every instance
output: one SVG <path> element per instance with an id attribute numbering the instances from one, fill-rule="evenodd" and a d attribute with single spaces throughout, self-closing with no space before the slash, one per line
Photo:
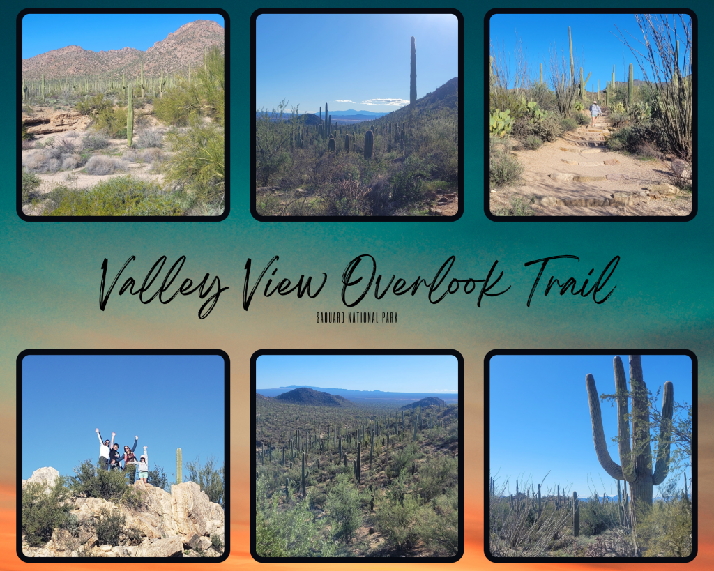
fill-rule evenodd
<path id="1" fill-rule="evenodd" d="M 253 218 L 458 220 L 463 81 L 456 9 L 256 10 Z"/>

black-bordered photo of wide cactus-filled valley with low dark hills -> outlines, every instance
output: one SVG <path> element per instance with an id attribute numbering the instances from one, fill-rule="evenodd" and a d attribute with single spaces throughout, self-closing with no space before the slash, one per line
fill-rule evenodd
<path id="1" fill-rule="evenodd" d="M 455 350 L 251 357 L 251 555 L 463 555 L 463 358 Z"/>

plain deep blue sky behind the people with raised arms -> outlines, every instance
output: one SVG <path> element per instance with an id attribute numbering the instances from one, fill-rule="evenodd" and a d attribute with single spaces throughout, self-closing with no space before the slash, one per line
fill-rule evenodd
<path id="1" fill-rule="evenodd" d="M 175 481 L 176 448 L 188 460 L 224 459 L 223 358 L 217 355 L 28 355 L 22 362 L 22 477 L 62 475 L 99 459 L 99 439 L 120 452 L 139 436 L 151 468 Z M 174 476 L 172 476 L 174 474 Z"/>

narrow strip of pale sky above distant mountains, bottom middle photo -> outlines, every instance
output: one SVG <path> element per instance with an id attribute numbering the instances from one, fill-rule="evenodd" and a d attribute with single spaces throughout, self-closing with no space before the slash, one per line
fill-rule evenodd
<path id="1" fill-rule="evenodd" d="M 394 393 L 458 393 L 452 355 L 261 355 L 256 388 L 309 385 Z"/>

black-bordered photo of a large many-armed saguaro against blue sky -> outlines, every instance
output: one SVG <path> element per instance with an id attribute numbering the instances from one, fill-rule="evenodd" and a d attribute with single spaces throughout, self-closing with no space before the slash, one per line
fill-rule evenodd
<path id="1" fill-rule="evenodd" d="M 694 559 L 694 353 L 493 350 L 483 366 L 488 560 Z"/>

